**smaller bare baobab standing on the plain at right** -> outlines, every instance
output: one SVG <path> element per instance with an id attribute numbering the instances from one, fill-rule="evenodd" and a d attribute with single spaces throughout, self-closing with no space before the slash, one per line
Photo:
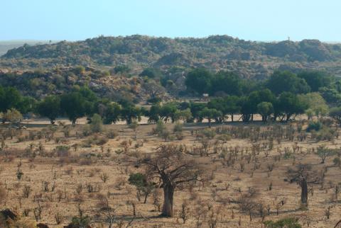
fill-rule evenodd
<path id="1" fill-rule="evenodd" d="M 308 206 L 308 184 L 318 183 L 320 178 L 318 173 L 313 171 L 310 164 L 298 164 L 293 169 L 288 169 L 290 183 L 296 182 L 301 186 L 301 204 Z"/>

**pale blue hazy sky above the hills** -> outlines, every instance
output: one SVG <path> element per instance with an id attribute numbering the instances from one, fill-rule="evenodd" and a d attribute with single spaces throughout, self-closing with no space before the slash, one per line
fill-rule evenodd
<path id="1" fill-rule="evenodd" d="M 98 35 L 341 41 L 340 0 L 0 0 L 0 40 Z"/>

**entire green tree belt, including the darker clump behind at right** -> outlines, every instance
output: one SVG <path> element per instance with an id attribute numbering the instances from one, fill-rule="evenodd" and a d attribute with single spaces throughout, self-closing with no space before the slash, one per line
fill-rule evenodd
<path id="1" fill-rule="evenodd" d="M 146 70 L 144 74 L 158 72 Z M 154 76 L 155 76 L 154 75 Z M 212 98 L 209 103 L 164 103 L 154 99 L 150 110 L 139 108 L 129 101 L 118 103 L 106 98 L 98 98 L 86 87 L 73 89 L 60 96 L 47 96 L 42 101 L 21 96 L 12 87 L 0 87 L 0 111 L 18 110 L 21 113 L 34 112 L 49 118 L 51 123 L 59 116 L 67 116 L 75 124 L 78 118 L 98 113 L 105 124 L 125 120 L 128 124 L 140 120 L 141 115 L 148 116 L 149 122 L 164 120 L 172 122 L 184 120 L 201 122 L 207 119 L 210 123 L 224 122 L 227 118 L 234 121 L 234 115 L 241 115 L 244 122 L 254 119 L 260 114 L 264 122 L 272 120 L 289 120 L 293 115 L 306 113 L 325 115 L 328 106 L 325 102 L 337 102 L 338 83 L 331 76 L 321 72 L 275 72 L 269 80 L 257 85 L 246 83 L 235 74 L 218 72 L 212 74 L 205 69 L 194 69 L 186 78 L 188 88 L 198 93 L 218 93 L 223 96 Z M 148 91 L 153 91 L 151 85 Z M 313 93 L 309 93 L 314 91 Z M 153 98 L 158 98 L 155 93 Z M 326 98 L 326 99 L 324 99 Z M 329 103 L 329 102 L 328 102 Z M 3 115 L 6 116 L 6 115 Z M 6 118 L 3 118 L 6 121 Z"/>

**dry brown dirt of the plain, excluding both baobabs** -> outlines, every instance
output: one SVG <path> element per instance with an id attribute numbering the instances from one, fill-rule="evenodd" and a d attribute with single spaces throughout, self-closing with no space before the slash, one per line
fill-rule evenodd
<path id="1" fill-rule="evenodd" d="M 205 185 L 197 184 L 192 188 L 176 190 L 175 217 L 167 218 L 159 216 L 152 195 L 148 196 L 146 204 L 144 200 L 137 200 L 136 187 L 131 186 L 127 180 L 130 173 L 144 172 L 144 167 L 136 168 L 134 156 L 129 154 L 153 153 L 160 144 L 184 144 L 188 149 L 201 147 L 203 142 L 198 135 L 202 129 L 207 129 L 207 123 L 185 124 L 183 139 L 165 142 L 163 138 L 153 135 L 156 125 L 147 125 L 146 120 L 142 120 L 136 132 L 119 123 L 104 125 L 102 133 L 86 136 L 85 119 L 80 120 L 81 124 L 76 127 L 70 126 L 67 120 L 58 121 L 67 126 L 56 127 L 53 137 L 49 139 L 46 138 L 46 132 L 49 132 L 48 120 L 26 120 L 23 122 L 27 126 L 26 130 L 15 130 L 12 139 L 6 137 L 3 141 L 0 183 L 6 189 L 6 200 L 0 208 L 11 208 L 20 215 L 27 212 L 27 218 L 35 220 L 33 211 L 40 207 L 42 213 L 38 222 L 48 224 L 49 227 L 63 227 L 72 217 L 79 215 L 81 210 L 83 215 L 92 217 L 94 227 L 108 227 L 97 210 L 98 195 L 102 194 L 107 196 L 109 204 L 116 209 L 117 220 L 125 224 L 122 227 L 126 227 L 132 218 L 134 221 L 131 227 L 197 227 L 195 214 L 200 208 L 211 206 L 212 214 L 207 213 L 202 218 L 200 227 L 210 227 L 212 220 L 217 220 L 216 227 L 264 227 L 263 221 L 286 217 L 297 217 L 303 227 L 334 227 L 341 220 L 341 201 L 335 198 L 335 186 L 341 183 L 341 169 L 333 163 L 337 155 L 328 156 L 325 164 L 320 164 L 320 158 L 313 152 L 313 149 L 321 145 L 339 149 L 340 139 L 317 142 L 310 139 L 310 133 L 306 133 L 303 127 L 306 139 L 299 140 L 299 133 L 296 132 L 292 140 L 283 137 L 280 144 L 273 139 L 273 147 L 270 148 L 269 138 L 254 141 L 249 137 L 229 134 L 230 139 L 221 140 L 222 134 L 218 130 L 219 127 L 244 127 L 252 131 L 259 127 L 262 132 L 274 125 L 295 127 L 296 122 L 268 125 L 261 122 L 248 125 L 229 122 L 226 125 L 213 125 L 211 130 L 218 133 L 207 139 L 210 155 L 198 158 L 205 162 L 212 180 Z M 166 127 L 173 132 L 174 124 L 167 124 Z M 6 131 L 6 126 L 2 126 L 1 130 Z M 68 135 L 65 135 L 66 131 Z M 116 132 L 117 136 L 110 139 L 107 137 L 108 132 Z M 102 138 L 105 139 L 103 142 L 96 143 Z M 61 145 L 70 147 L 67 157 L 53 155 L 52 152 Z M 258 149 L 254 159 L 247 161 L 246 155 L 251 154 L 252 148 L 256 147 L 263 149 Z M 224 158 L 220 156 L 222 148 L 229 152 L 238 151 L 238 159 L 234 164 L 225 164 Z M 122 152 L 124 149 L 126 151 Z M 291 156 L 281 156 L 277 160 L 278 154 Z M 318 172 L 327 170 L 323 183 L 309 185 L 308 208 L 303 209 L 300 205 L 300 186 L 286 181 L 288 167 L 299 163 L 312 164 Z M 271 164 L 274 164 L 272 171 L 269 170 Z M 254 169 L 255 165 L 259 165 L 259 168 Z M 18 170 L 23 173 L 20 180 Z M 105 183 L 101 179 L 103 174 L 108 176 Z M 27 198 L 23 193 L 28 188 L 26 186 L 31 188 Z M 89 190 L 90 186 L 92 190 Z M 163 193 L 161 189 L 157 192 L 162 204 Z M 262 217 L 260 210 L 255 208 L 250 218 L 250 213 L 241 208 L 243 198 L 263 206 L 265 215 Z M 136 205 L 136 217 L 133 216 L 132 202 Z M 188 220 L 183 224 L 178 215 L 184 202 L 189 210 Z M 326 216 L 328 207 L 329 219 Z M 269 215 L 266 208 L 269 208 Z M 56 215 L 61 218 L 60 224 L 56 222 Z"/>

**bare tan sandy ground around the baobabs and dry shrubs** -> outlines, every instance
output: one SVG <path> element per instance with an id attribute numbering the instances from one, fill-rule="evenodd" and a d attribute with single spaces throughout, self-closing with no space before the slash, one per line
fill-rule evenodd
<path id="1" fill-rule="evenodd" d="M 236 118 L 237 119 L 237 118 Z M 66 124 L 68 120 L 62 119 Z M 85 140 L 91 139 L 93 135 L 87 137 L 80 137 L 82 127 L 86 123 L 85 119 L 80 119 L 82 125 L 70 127 L 70 137 L 63 136 L 63 127 L 58 127 L 55 133 L 55 138 L 60 138 L 59 142 L 55 139 L 46 141 L 43 139 L 27 139 L 23 142 L 18 142 L 17 137 L 13 139 L 6 139 L 6 151 L 13 153 L 10 161 L 5 161 L 5 156 L 2 154 L 0 163 L 0 182 L 2 186 L 7 189 L 8 197 L 6 202 L 1 205 L 1 208 L 10 207 L 22 213 L 24 210 L 31 210 L 28 217 L 34 219 L 33 210 L 38 207 L 38 204 L 43 207 L 42 217 L 40 222 L 47 223 L 50 227 L 62 227 L 62 224 L 67 224 L 73 216 L 78 215 L 78 203 L 81 202 L 80 207 L 85 215 L 95 216 L 97 214 L 97 195 L 109 195 L 109 202 L 112 207 L 117 208 L 118 217 L 124 216 L 126 220 L 132 217 L 132 207 L 128 203 L 134 201 L 136 203 L 137 218 L 133 222 L 132 227 L 196 227 L 195 212 L 191 212 L 188 221 L 183 224 L 182 220 L 178 218 L 181 204 L 187 202 L 189 207 L 195 210 L 197 202 L 203 204 L 200 207 L 207 207 L 211 204 L 214 210 L 219 212 L 217 215 L 217 227 L 264 227 L 261 223 L 261 217 L 254 215 L 252 221 L 246 212 L 239 210 L 239 206 L 233 203 L 234 200 L 242 198 L 242 195 L 247 193 L 250 188 L 256 191 L 252 200 L 257 203 L 262 203 L 264 206 L 271 208 L 270 215 L 266 216 L 265 220 L 277 220 L 283 217 L 298 217 L 303 227 L 333 227 L 338 220 L 341 220 L 340 201 L 331 200 L 333 195 L 332 184 L 341 183 L 341 169 L 332 165 L 332 158 L 328 157 L 325 164 L 320 164 L 320 159 L 315 154 L 295 155 L 296 159 L 281 159 L 281 161 L 274 161 L 274 156 L 278 155 L 278 148 L 283 152 L 284 148 L 291 149 L 294 145 L 302 147 L 305 152 L 308 148 L 315 148 L 320 145 L 325 145 L 332 148 L 340 148 L 340 139 L 335 142 L 313 142 L 306 140 L 303 142 L 288 142 L 283 140 L 281 144 L 274 142 L 274 149 L 268 155 L 261 152 L 257 156 L 261 168 L 252 171 L 254 164 L 247 161 L 238 161 L 234 166 L 223 166 L 217 154 L 207 158 L 205 163 L 207 165 L 207 172 L 213 170 L 214 178 L 211 183 L 205 186 L 195 186 L 192 191 L 187 188 L 175 191 L 175 216 L 174 218 L 158 217 L 160 212 L 152 204 L 153 198 L 148 197 L 147 203 L 139 202 L 136 199 L 136 188 L 129 185 L 127 180 L 129 173 L 143 172 L 144 169 L 136 169 L 133 165 L 131 157 L 126 154 L 117 154 L 118 149 L 122 149 L 122 142 L 131 140 L 131 147 L 129 150 L 135 151 L 135 144 L 143 144 L 138 148 L 139 153 L 151 153 L 155 148 L 162 143 L 185 144 L 186 146 L 196 147 L 200 145 L 195 137 L 195 131 L 203 127 L 207 127 L 206 123 L 202 124 L 188 124 L 183 127 L 183 140 L 175 140 L 174 142 L 164 142 L 163 139 L 152 135 L 152 128 L 155 125 L 143 125 L 146 119 L 141 121 L 137 130 L 137 138 L 134 139 L 134 132 L 126 125 L 107 125 L 104 126 L 105 132 L 114 130 L 118 136 L 114 139 L 109 139 L 103 146 L 92 144 L 91 147 L 84 147 L 82 144 Z M 28 125 L 27 130 L 22 130 L 22 135 L 28 135 L 29 132 L 43 132 L 43 127 L 39 125 L 48 125 L 48 120 L 28 120 L 24 122 Z M 236 123 L 234 125 L 243 125 Z M 251 126 L 251 125 L 247 125 Z M 263 124 L 257 123 L 256 126 Z M 169 130 L 173 129 L 173 125 L 167 125 Z M 264 126 L 264 128 L 267 125 Z M 194 135 L 192 135 L 194 132 Z M 215 139 L 212 139 L 211 149 Z M 250 142 L 249 139 L 234 139 L 221 144 L 222 147 L 251 150 L 254 144 L 261 144 L 267 140 L 259 142 Z M 36 158 L 27 158 L 23 156 L 23 151 L 33 144 L 33 148 L 37 149 L 38 144 L 43 144 L 46 152 L 51 152 L 58 145 L 67 145 L 70 147 L 70 157 L 80 157 L 77 161 L 65 160 L 55 157 L 36 156 Z M 78 144 L 77 151 L 72 149 L 72 145 Z M 84 156 L 91 156 L 92 159 L 85 159 Z M 283 181 L 286 178 L 286 170 L 288 166 L 294 163 L 298 164 L 309 163 L 313 164 L 317 169 L 322 170 L 323 166 L 328 167 L 328 172 L 325 174 L 325 184 L 311 185 L 313 193 L 309 195 L 308 210 L 299 210 L 300 204 L 300 188 L 295 183 L 288 183 Z M 21 171 L 23 178 L 18 181 L 16 172 L 18 164 L 21 163 Z M 243 163 L 244 171 L 240 170 L 240 163 Z M 267 171 L 267 164 L 275 164 L 273 171 Z M 109 176 L 106 183 L 104 183 L 100 176 L 107 173 Z M 252 174 L 253 173 L 253 174 Z M 48 183 L 48 190 L 43 189 L 44 183 Z M 121 183 L 121 184 L 119 184 Z M 272 190 L 269 190 L 269 184 L 272 183 Z M 96 188 L 96 192 L 88 193 L 87 185 L 91 184 Z M 28 198 L 23 197 L 23 188 L 30 186 L 32 191 Z M 54 187 L 53 187 L 54 186 Z M 52 188 L 54 188 L 52 190 Z M 81 190 L 80 190 L 81 189 Z M 81 193 L 77 193 L 80 191 Z M 60 200 L 58 199 L 60 196 Z M 79 198 L 81 195 L 81 199 Z M 340 196 L 341 197 L 341 196 Z M 162 194 L 160 196 L 162 199 Z M 279 208 L 279 215 L 276 215 L 276 205 L 281 200 L 286 203 Z M 161 200 L 162 201 L 162 200 Z M 325 210 L 332 206 L 330 212 L 330 219 L 325 217 Z M 55 222 L 55 215 L 59 214 L 63 217 L 63 222 L 57 225 Z M 202 227 L 208 227 L 207 220 L 202 223 Z M 101 220 L 96 221 L 95 227 L 101 227 Z M 104 227 L 106 227 L 104 225 Z"/>

